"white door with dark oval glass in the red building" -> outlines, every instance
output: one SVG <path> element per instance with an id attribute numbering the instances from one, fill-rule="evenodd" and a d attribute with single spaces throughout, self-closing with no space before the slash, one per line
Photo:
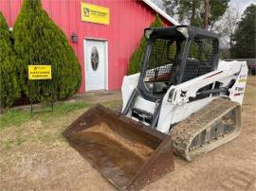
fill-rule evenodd
<path id="1" fill-rule="evenodd" d="M 107 42 L 84 40 L 85 91 L 107 89 Z"/>

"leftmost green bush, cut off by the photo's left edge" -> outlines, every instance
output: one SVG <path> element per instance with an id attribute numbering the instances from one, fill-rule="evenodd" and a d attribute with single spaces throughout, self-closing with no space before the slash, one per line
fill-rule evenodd
<path id="1" fill-rule="evenodd" d="M 20 97 L 17 60 L 13 54 L 9 27 L 0 11 L 0 104 L 11 106 Z"/>

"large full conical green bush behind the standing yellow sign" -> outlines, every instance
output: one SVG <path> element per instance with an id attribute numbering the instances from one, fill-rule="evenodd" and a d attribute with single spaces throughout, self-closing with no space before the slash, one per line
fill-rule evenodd
<path id="1" fill-rule="evenodd" d="M 47 102 L 74 95 L 81 84 L 81 67 L 59 26 L 42 9 L 40 0 L 24 0 L 13 27 L 14 50 L 21 59 L 20 84 L 31 101 Z M 28 64 L 51 64 L 52 80 L 27 79 Z M 30 87 L 30 91 L 29 91 Z"/>

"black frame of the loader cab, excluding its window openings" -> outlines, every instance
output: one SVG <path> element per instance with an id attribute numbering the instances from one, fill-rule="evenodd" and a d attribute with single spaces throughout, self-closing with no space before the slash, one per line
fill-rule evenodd
<path id="1" fill-rule="evenodd" d="M 182 33 L 180 30 L 181 28 L 186 28 L 187 33 L 186 34 Z M 148 71 L 149 59 L 150 59 L 151 50 L 152 50 L 153 43 L 155 42 L 155 39 L 159 39 L 159 38 L 170 39 L 171 37 L 172 38 L 174 37 L 178 40 L 185 42 L 182 55 L 179 58 L 179 63 L 178 63 L 179 69 L 178 71 L 174 71 L 172 69 L 172 76 L 175 76 L 175 81 L 171 85 L 177 85 L 179 83 L 182 83 L 186 80 L 191 79 L 191 78 L 188 78 L 187 73 L 188 72 L 190 73 L 191 72 L 190 70 L 192 70 L 195 66 L 193 63 L 194 61 L 190 61 L 189 63 L 188 59 L 189 59 L 192 43 L 194 43 L 196 41 L 196 38 L 198 37 L 204 38 L 206 40 L 210 39 L 212 40 L 212 42 L 214 42 L 214 54 L 212 54 L 209 66 L 207 66 L 207 70 L 202 70 L 201 72 L 197 71 L 197 74 L 193 74 L 193 78 L 209 73 L 217 68 L 218 53 L 219 53 L 219 35 L 217 33 L 209 30 L 204 30 L 202 28 L 193 27 L 193 26 L 146 28 L 145 34 L 147 30 L 151 30 L 150 31 L 151 33 L 150 33 L 150 37 L 148 37 L 148 44 L 145 49 L 144 58 L 142 59 L 142 62 L 141 62 L 142 67 L 141 67 L 140 77 L 138 79 L 138 85 L 137 85 L 138 93 L 141 96 L 143 96 L 145 99 L 150 101 L 156 101 L 156 100 L 161 100 L 163 98 L 163 95 L 154 95 L 151 92 L 149 92 L 145 87 L 145 83 L 144 83 L 144 78 Z M 212 46 L 213 46 L 213 43 L 212 43 Z M 191 65 L 189 66 L 189 64 Z M 197 66 L 198 64 L 200 65 L 202 63 L 201 62 L 197 63 Z M 197 76 L 194 77 L 194 75 L 197 75 Z"/>

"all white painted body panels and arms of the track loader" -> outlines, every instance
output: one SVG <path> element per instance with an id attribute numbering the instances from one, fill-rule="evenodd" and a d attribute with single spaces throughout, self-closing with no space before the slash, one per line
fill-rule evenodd
<path id="1" fill-rule="evenodd" d="M 125 109 L 129 97 L 137 88 L 138 78 L 139 73 L 123 78 L 121 86 L 122 111 Z M 190 98 L 195 97 L 200 88 L 216 82 L 226 87 L 230 81 L 233 81 L 233 85 L 229 88 L 229 96 L 220 93 L 218 96 L 210 95 L 203 99 L 190 101 Z M 172 85 L 163 97 L 156 130 L 168 133 L 173 124 L 184 120 L 192 113 L 196 113 L 208 105 L 213 99 L 221 96 L 227 97 L 231 101 L 238 102 L 242 105 L 246 82 L 246 61 L 219 61 L 217 70 L 197 78 L 192 78 L 178 85 Z M 134 107 L 153 114 L 155 113 L 156 104 L 158 103 L 146 100 L 138 95 Z M 132 116 L 131 112 L 127 113 L 126 116 L 137 120 L 137 118 Z M 142 123 L 149 125 L 146 122 Z"/>

